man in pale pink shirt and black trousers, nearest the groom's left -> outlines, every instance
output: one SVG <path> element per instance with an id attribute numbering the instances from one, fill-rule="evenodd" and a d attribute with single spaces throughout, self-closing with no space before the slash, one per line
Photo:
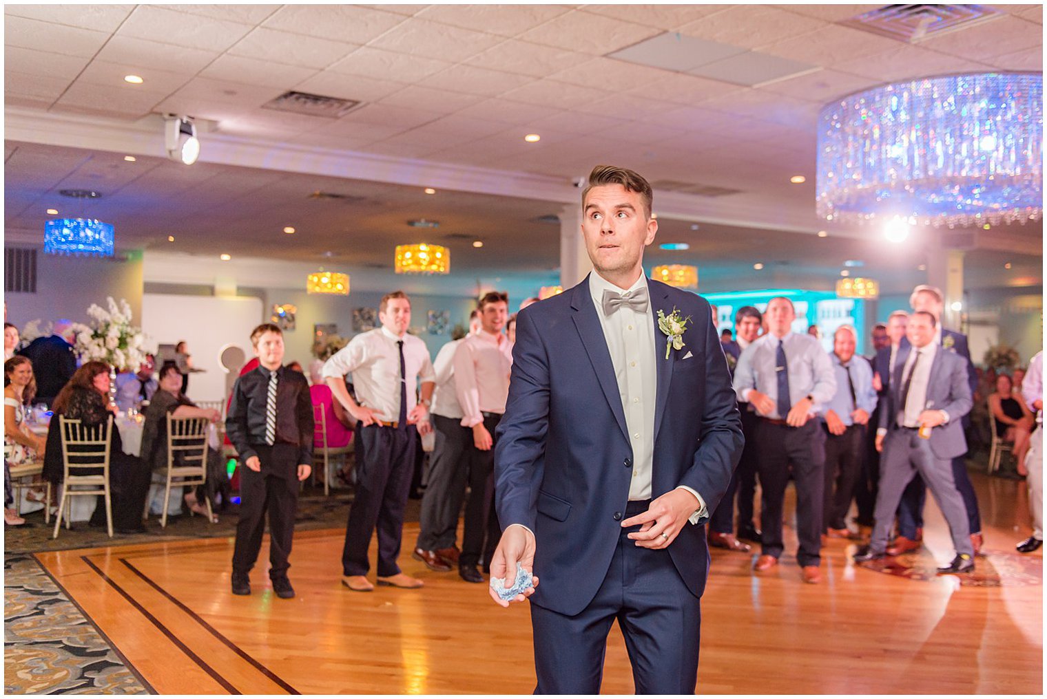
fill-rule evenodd
<path id="1" fill-rule="evenodd" d="M 483 583 L 476 569 L 481 556 L 489 570 L 491 555 L 502 528 L 494 514 L 494 430 L 506 411 L 513 346 L 502 330 L 509 317 L 509 297 L 491 291 L 480 299 L 480 332 L 454 351 L 454 389 L 462 406 L 462 427 L 472 431 L 469 466 L 469 500 L 459 574 L 469 583 Z"/>

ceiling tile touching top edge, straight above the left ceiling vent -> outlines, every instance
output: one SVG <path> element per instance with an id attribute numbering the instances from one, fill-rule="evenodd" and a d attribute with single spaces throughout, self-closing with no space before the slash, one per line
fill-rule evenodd
<path id="1" fill-rule="evenodd" d="M 404 21 L 403 15 L 356 5 L 284 5 L 264 26 L 363 45 Z"/>

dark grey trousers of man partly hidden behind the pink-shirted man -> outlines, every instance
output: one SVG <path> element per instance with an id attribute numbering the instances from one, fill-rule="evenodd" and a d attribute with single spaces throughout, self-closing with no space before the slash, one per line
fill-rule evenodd
<path id="1" fill-rule="evenodd" d="M 436 446 L 429 463 L 429 479 L 422 497 L 419 548 L 450 548 L 458 539 L 458 518 L 465 498 L 469 461 L 473 454 L 472 430 L 459 418 L 432 415 Z"/>

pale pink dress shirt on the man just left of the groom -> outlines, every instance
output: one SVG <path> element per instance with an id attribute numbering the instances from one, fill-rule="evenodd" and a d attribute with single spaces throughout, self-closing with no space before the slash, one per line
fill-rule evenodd
<path id="1" fill-rule="evenodd" d="M 480 330 L 454 351 L 454 386 L 462 427 L 484 422 L 485 412 L 504 413 L 509 400 L 513 343 L 502 333 Z"/>

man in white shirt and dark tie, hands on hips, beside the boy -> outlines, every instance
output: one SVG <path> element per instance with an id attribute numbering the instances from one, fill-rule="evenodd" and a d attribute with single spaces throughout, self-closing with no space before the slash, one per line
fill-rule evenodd
<path id="1" fill-rule="evenodd" d="M 335 400 L 357 420 L 363 445 L 341 557 L 342 584 L 356 592 L 374 589 L 366 576 L 371 567 L 367 547 L 376 525 L 378 584 L 422 587 L 422 581 L 401 572 L 397 559 L 415 467 L 415 426 L 422 434 L 432 429 L 428 406 L 436 374 L 425 343 L 407 335 L 410 299 L 405 293 L 383 296 L 378 319 L 381 328 L 357 335 L 324 365 L 324 379 Z M 353 375 L 359 403 L 346 389 L 347 374 Z M 422 379 L 422 402 L 416 405 L 418 377 Z"/>

